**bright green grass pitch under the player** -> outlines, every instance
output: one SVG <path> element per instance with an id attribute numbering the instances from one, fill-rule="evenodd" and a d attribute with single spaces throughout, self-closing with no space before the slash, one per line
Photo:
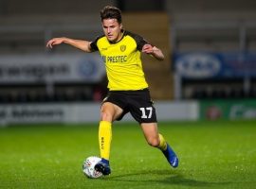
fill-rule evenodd
<path id="1" fill-rule="evenodd" d="M 115 123 L 112 174 L 82 174 L 99 155 L 98 124 L 0 128 L 0 188 L 256 188 L 256 121 L 160 122 L 174 169 L 146 144 L 136 123 Z"/>

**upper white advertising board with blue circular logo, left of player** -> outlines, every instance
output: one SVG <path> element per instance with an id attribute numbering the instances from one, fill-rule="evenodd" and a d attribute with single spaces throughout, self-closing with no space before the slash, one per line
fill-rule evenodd
<path id="1" fill-rule="evenodd" d="M 104 75 L 97 53 L 0 56 L 0 83 L 97 82 Z"/>

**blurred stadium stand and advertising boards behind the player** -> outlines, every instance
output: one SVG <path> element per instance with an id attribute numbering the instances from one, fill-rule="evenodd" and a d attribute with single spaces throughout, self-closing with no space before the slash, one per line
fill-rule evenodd
<path id="1" fill-rule="evenodd" d="M 167 57 L 143 56 L 158 119 L 256 118 L 256 1 L 0 0 L 2 126 L 98 120 L 101 58 L 67 45 L 48 50 L 46 41 L 93 40 L 105 5 Z"/>

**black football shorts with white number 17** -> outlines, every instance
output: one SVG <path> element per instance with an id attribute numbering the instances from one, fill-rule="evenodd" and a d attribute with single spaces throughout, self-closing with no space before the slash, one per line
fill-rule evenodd
<path id="1" fill-rule="evenodd" d="M 130 112 L 132 116 L 141 123 L 157 122 L 155 107 L 148 89 L 138 91 L 109 91 L 103 102 L 111 102 L 119 106 L 123 112 L 117 119 Z"/>

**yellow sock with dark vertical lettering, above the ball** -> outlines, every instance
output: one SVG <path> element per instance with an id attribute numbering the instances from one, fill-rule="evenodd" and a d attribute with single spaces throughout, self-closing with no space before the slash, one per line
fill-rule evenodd
<path id="1" fill-rule="evenodd" d="M 101 121 L 99 127 L 99 144 L 101 158 L 109 160 L 110 146 L 112 140 L 112 127 L 111 122 Z"/>

